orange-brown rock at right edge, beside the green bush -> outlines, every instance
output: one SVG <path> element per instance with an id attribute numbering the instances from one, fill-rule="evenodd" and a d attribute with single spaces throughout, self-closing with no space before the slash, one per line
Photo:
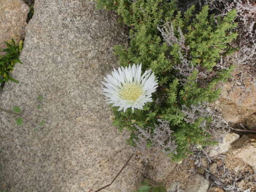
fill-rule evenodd
<path id="1" fill-rule="evenodd" d="M 248 129 L 256 129 L 256 78 L 243 66 L 236 66 L 231 82 L 220 85 L 221 95 L 215 108 L 230 123 L 242 123 Z"/>

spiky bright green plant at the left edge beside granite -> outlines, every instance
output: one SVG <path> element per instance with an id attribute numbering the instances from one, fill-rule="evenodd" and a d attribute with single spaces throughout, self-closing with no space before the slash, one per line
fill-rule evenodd
<path id="1" fill-rule="evenodd" d="M 11 77 L 14 65 L 16 63 L 22 63 L 19 59 L 20 52 L 22 50 L 22 41 L 16 44 L 13 39 L 9 42 L 5 42 L 7 48 L 1 50 L 0 52 L 5 52 L 4 55 L 0 55 L 0 83 L 1 88 L 3 88 L 4 82 L 9 80 L 19 83 L 16 79 Z"/>

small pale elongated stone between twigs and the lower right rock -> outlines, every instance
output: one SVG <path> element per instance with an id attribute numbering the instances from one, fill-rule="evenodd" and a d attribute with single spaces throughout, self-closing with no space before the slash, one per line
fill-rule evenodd
<path id="1" fill-rule="evenodd" d="M 225 135 L 223 140 L 219 143 L 218 146 L 209 147 L 209 156 L 213 157 L 219 154 L 226 153 L 230 148 L 231 144 L 239 139 L 239 135 L 233 132 L 229 132 Z"/>

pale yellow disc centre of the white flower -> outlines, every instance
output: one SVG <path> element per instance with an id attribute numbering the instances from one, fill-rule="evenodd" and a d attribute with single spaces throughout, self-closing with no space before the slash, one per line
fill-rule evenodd
<path id="1" fill-rule="evenodd" d="M 126 83 L 122 86 L 119 95 L 124 100 L 136 101 L 142 95 L 142 86 L 137 83 Z"/>

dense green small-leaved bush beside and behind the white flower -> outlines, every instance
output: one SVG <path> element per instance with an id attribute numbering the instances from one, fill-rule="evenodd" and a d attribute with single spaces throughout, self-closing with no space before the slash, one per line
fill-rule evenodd
<path id="1" fill-rule="evenodd" d="M 121 66 L 142 63 L 143 70 L 154 71 L 159 83 L 154 102 L 147 103 L 143 110 L 135 109 L 132 113 L 128 109 L 124 113 L 113 107 L 114 125 L 120 130 L 130 130 L 132 146 L 139 145 L 139 135 L 151 135 L 146 145 L 150 147 L 159 143 L 154 142 L 156 127 L 163 127 L 159 125 L 163 121 L 169 122 L 164 127 L 172 132 L 168 139 L 175 142 L 170 145 L 175 150 L 168 147 L 164 150 L 175 161 L 185 158 L 193 145 L 213 144 L 207 132 L 211 116 L 198 110 L 191 110 L 196 115 L 188 115 L 184 109 L 188 111 L 218 98 L 220 90 L 215 87 L 219 81 L 227 79 L 231 70 L 218 64 L 233 51 L 229 43 L 237 37 L 232 32 L 236 28 L 236 11 L 230 11 L 225 17 L 214 17 L 209 14 L 207 5 L 198 13 L 195 6 L 182 13 L 177 1 L 97 2 L 100 8 L 114 9 L 130 27 L 129 46 L 115 46 Z M 195 119 L 188 121 L 189 117 Z M 165 137 L 161 145 L 167 143 Z"/>

